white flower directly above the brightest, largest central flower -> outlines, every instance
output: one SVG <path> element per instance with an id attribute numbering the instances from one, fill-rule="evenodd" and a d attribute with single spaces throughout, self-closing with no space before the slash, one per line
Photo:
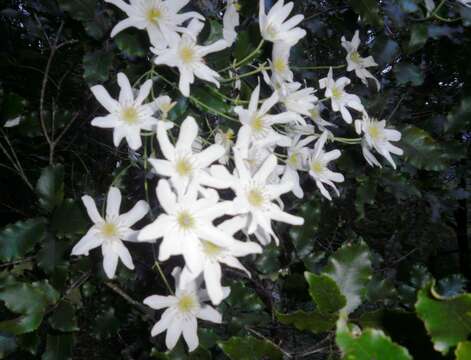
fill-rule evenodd
<path id="1" fill-rule="evenodd" d="M 188 116 L 180 127 L 178 140 L 170 143 L 167 131 L 157 128 L 157 139 L 164 159 L 149 159 L 157 174 L 170 178 L 178 192 L 184 192 L 192 181 L 197 185 L 217 187 L 217 182 L 206 171 L 208 166 L 224 155 L 224 147 L 214 144 L 195 153 L 193 144 L 198 136 L 198 125 Z"/>

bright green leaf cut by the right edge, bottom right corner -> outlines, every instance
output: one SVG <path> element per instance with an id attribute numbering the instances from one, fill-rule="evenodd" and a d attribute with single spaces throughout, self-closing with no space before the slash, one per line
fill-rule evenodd
<path id="1" fill-rule="evenodd" d="M 471 294 L 443 299 L 433 282 L 417 295 L 415 310 L 432 338 L 433 347 L 442 354 L 471 334 Z"/>

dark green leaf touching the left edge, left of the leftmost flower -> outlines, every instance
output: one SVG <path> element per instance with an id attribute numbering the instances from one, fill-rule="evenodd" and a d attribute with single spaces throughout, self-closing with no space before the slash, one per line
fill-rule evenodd
<path id="1" fill-rule="evenodd" d="M 0 232 L 0 260 L 21 258 L 45 235 L 44 219 L 29 219 L 8 225 Z"/>

